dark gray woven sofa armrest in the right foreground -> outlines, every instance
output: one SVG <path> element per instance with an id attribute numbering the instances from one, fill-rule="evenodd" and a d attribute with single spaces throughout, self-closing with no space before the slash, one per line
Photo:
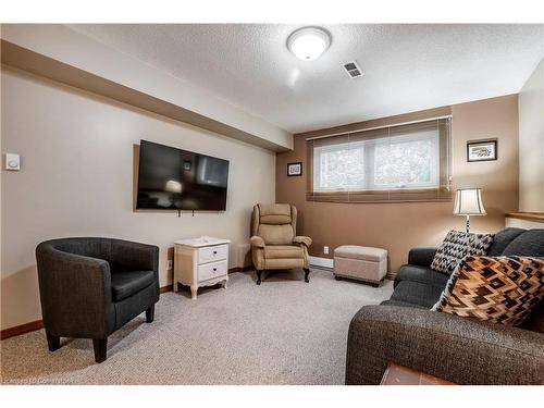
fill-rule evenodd
<path id="1" fill-rule="evenodd" d="M 544 384 L 544 334 L 397 306 L 366 306 L 348 333 L 346 384 L 396 362 L 458 384 Z"/>

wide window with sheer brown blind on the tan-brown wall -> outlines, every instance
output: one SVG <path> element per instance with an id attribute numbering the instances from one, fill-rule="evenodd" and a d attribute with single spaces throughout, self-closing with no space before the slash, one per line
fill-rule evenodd
<path id="1" fill-rule="evenodd" d="M 449 118 L 308 140 L 308 198 L 447 199 L 448 146 Z"/>

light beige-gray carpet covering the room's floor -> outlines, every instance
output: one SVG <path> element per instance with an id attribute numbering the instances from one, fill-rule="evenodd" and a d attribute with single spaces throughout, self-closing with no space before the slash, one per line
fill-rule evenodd
<path id="1" fill-rule="evenodd" d="M 96 364 L 90 339 L 62 338 L 47 349 L 44 331 L 1 342 L 8 384 L 343 384 L 347 331 L 363 305 L 393 292 L 335 281 L 312 270 L 233 273 L 226 289 L 166 293 L 154 322 L 141 314 L 112 334 Z"/>

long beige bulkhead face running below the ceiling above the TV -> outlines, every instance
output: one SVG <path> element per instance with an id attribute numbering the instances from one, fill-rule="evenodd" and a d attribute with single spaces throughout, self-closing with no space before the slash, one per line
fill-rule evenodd
<path id="1" fill-rule="evenodd" d="M 290 133 L 213 94 L 110 48 L 62 24 L 2 24 L 2 38 L 78 70 L 197 112 L 256 139 L 293 148 Z"/>

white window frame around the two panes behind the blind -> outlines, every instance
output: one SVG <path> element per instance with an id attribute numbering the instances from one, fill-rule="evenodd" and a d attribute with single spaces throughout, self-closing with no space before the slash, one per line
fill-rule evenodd
<path id="1" fill-rule="evenodd" d="M 431 156 L 431 181 L 428 183 L 410 183 L 410 184 L 376 184 L 374 162 L 374 148 L 380 144 L 398 144 L 406 141 L 431 140 L 433 154 Z M 347 187 L 321 187 L 321 161 L 322 153 L 327 151 L 347 149 L 363 149 L 364 177 L 361 183 Z M 422 188 L 438 188 L 440 187 L 440 135 L 437 132 L 422 132 L 420 135 L 398 135 L 385 136 L 383 138 L 357 140 L 341 143 L 337 145 L 318 146 L 313 148 L 313 190 L 316 193 L 333 193 L 333 191 L 367 191 L 367 190 L 393 190 L 393 189 L 422 189 Z"/>

